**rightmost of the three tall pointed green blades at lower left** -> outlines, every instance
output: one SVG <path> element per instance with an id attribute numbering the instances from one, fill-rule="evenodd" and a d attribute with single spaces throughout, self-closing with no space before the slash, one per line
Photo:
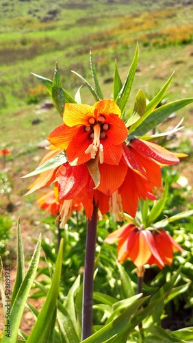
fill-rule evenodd
<path id="1" fill-rule="evenodd" d="M 27 343 L 44 342 L 47 337 L 47 333 L 51 325 L 53 325 L 52 318 L 55 313 L 57 304 L 57 296 L 60 287 L 60 275 L 62 270 L 62 254 L 63 254 L 63 239 L 60 243 L 60 250 L 57 255 L 57 261 L 55 263 L 55 271 L 53 273 L 53 279 L 51 281 L 51 287 L 47 294 L 45 303 L 38 315 L 37 321 L 27 339 Z"/>

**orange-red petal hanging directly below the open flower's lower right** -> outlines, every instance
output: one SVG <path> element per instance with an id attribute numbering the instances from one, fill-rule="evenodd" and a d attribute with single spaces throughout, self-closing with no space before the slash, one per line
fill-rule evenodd
<path id="1" fill-rule="evenodd" d="M 127 165 L 122 161 L 120 161 L 119 165 L 103 163 L 99 165 L 99 171 L 101 174 L 101 182 L 98 189 L 107 196 L 110 196 L 122 185 L 127 173 Z"/>

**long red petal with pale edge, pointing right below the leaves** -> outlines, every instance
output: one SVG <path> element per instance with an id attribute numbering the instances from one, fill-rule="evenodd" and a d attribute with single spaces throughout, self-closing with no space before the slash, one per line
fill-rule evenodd
<path id="1" fill-rule="evenodd" d="M 164 147 L 155 143 L 133 139 L 129 145 L 137 150 L 142 156 L 153 159 L 159 164 L 173 165 L 179 163 L 179 158 L 177 158 L 175 154 L 172 154 L 172 152 L 169 152 Z"/>

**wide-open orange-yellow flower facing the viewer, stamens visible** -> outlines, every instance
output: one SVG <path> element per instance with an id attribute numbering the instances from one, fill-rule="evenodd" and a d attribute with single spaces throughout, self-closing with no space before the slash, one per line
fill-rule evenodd
<path id="1" fill-rule="evenodd" d="M 128 134 L 120 115 L 113 100 L 101 100 L 94 106 L 65 104 L 64 124 L 55 128 L 48 140 L 66 150 L 70 164 L 86 163 L 99 152 L 101 163 L 118 165 Z"/>

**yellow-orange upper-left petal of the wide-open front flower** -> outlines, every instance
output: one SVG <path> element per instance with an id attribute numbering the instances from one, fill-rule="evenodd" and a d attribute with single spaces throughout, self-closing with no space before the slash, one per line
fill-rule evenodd
<path id="1" fill-rule="evenodd" d="M 68 126 L 89 125 L 88 119 L 94 117 L 94 107 L 83 104 L 65 104 L 64 123 Z"/>

